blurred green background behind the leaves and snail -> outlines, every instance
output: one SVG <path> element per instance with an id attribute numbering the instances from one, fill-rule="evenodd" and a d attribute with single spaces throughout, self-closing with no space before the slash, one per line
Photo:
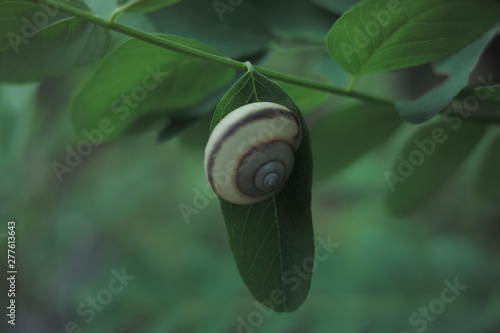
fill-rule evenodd
<path id="1" fill-rule="evenodd" d="M 111 8 L 88 2 L 101 15 Z M 243 7 L 250 5 L 236 7 L 234 16 L 227 13 L 228 20 L 237 22 L 247 13 Z M 200 32 L 199 40 L 292 73 L 314 59 L 316 76 L 330 73 L 323 79 L 330 76 L 334 84 L 345 85 L 345 73 L 325 62 L 320 44 L 338 15 L 306 7 L 321 12 L 311 17 L 323 15 L 324 21 L 306 27 L 276 21 L 272 37 L 266 35 L 252 49 L 231 47 L 220 34 L 206 37 Z M 158 23 L 162 15 L 166 12 L 126 15 L 123 21 L 169 32 Z M 235 24 L 217 21 L 214 12 L 210 15 L 219 25 Z M 251 24 L 244 28 L 255 31 Z M 195 32 L 181 30 L 178 34 L 194 38 Z M 482 202 L 472 190 L 478 163 L 498 129 L 490 129 L 467 163 L 426 205 L 405 218 L 387 210 L 384 173 L 418 126 L 399 127 L 382 146 L 340 172 L 317 179 L 315 235 L 330 237 L 340 246 L 318 262 L 308 299 L 298 311 L 259 315 L 261 307 L 238 275 L 218 200 L 208 198 L 206 207 L 189 221 L 179 209 L 181 204 L 193 206 L 196 191 L 207 184 L 203 150 L 208 116 L 163 143 L 158 143 L 157 130 L 103 143 L 59 182 L 52 164 L 64 163 L 68 147 L 78 144 L 69 123 L 69 101 L 94 66 L 41 83 L 0 84 L 0 256 L 6 258 L 7 222 L 15 220 L 19 271 L 17 325 L 7 325 L 2 313 L 1 332 L 64 332 L 68 322 L 89 333 L 500 331 L 500 208 Z M 418 80 L 425 85 L 435 80 L 428 67 L 418 70 L 424 73 Z M 479 68 L 492 70 L 487 62 Z M 357 89 L 409 96 L 425 89 L 411 80 L 415 73 L 371 75 Z M 297 102 L 307 111 L 313 139 L 318 115 L 353 103 L 308 93 Z M 353 140 L 363 134 L 352 128 Z M 328 142 L 316 138 L 313 144 Z M 328 168 L 328 160 L 337 158 L 321 157 L 316 165 L 320 172 Z M 0 268 L 7 270 L 5 259 Z M 113 271 L 123 269 L 133 280 L 86 322 L 89 316 L 80 315 L 78 308 L 89 297 L 103 297 Z M 442 314 L 426 321 L 425 329 L 422 322 L 412 325 L 414 312 L 441 298 L 446 279 L 458 279 L 467 289 L 446 304 Z M 3 299 L 5 279 L 0 287 Z"/>

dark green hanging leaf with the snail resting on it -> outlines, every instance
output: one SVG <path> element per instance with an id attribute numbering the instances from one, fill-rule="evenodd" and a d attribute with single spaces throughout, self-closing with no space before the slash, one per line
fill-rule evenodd
<path id="1" fill-rule="evenodd" d="M 287 185 L 274 197 L 252 205 L 220 199 L 229 242 L 238 270 L 254 297 L 269 305 L 276 293 L 286 300 L 272 304 L 277 312 L 295 311 L 305 300 L 311 274 L 298 277 L 294 266 L 314 258 L 311 217 L 312 155 L 306 123 L 295 103 L 263 75 L 246 73 L 219 103 L 211 130 L 231 111 L 253 102 L 281 104 L 292 110 L 303 128 L 303 141 Z M 298 282 L 292 282 L 298 281 Z"/>

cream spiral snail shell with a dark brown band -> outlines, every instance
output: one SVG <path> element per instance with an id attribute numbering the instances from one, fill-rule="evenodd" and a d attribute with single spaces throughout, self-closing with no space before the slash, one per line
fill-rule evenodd
<path id="1" fill-rule="evenodd" d="M 288 181 L 302 128 L 295 114 L 269 102 L 244 105 L 222 119 L 205 149 L 214 192 L 234 204 L 270 198 Z"/>

